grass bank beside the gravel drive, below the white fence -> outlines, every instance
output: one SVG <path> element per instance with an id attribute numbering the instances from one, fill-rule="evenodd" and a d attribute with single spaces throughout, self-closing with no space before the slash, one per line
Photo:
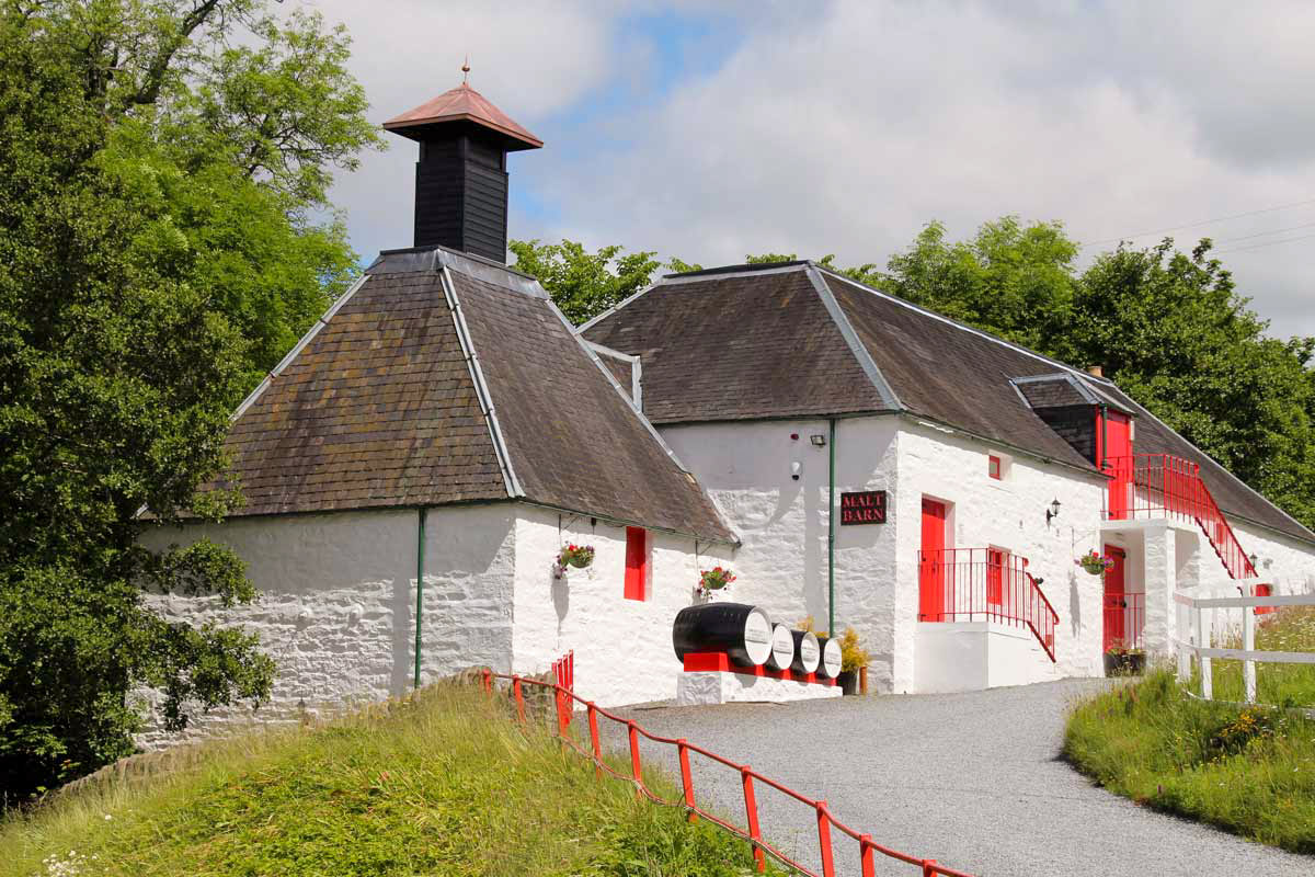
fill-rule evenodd
<path id="1" fill-rule="evenodd" d="M 1152 671 L 1080 703 L 1064 753 L 1139 803 L 1315 853 L 1315 722 L 1299 714 L 1198 701 Z"/>

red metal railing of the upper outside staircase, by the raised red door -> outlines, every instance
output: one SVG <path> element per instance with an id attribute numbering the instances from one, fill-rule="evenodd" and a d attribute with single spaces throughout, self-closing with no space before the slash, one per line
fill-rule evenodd
<path id="1" fill-rule="evenodd" d="M 1256 567 L 1215 504 L 1201 465 L 1169 454 L 1136 454 L 1106 460 L 1112 477 L 1105 514 L 1111 521 L 1173 517 L 1195 521 L 1231 579 L 1248 579 Z"/>

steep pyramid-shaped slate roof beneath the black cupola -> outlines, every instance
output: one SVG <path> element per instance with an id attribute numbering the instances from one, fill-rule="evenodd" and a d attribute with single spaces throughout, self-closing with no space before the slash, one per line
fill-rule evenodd
<path id="1" fill-rule="evenodd" d="M 226 447 L 235 514 L 523 498 L 735 540 L 537 281 L 441 247 L 380 256 Z"/>

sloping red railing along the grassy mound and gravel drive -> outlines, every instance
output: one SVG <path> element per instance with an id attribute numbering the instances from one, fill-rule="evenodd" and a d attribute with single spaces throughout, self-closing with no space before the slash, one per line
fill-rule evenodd
<path id="1" fill-rule="evenodd" d="M 873 877 L 876 874 L 876 855 L 881 853 L 889 859 L 906 863 L 909 865 L 915 865 L 920 869 L 923 877 L 932 877 L 935 874 L 945 874 L 947 877 L 972 877 L 967 872 L 956 870 L 945 865 L 939 864 L 935 859 L 918 859 L 907 853 L 902 853 L 898 849 L 892 849 L 889 847 L 882 847 L 872 840 L 872 835 L 859 834 L 849 826 L 844 824 L 834 815 L 831 815 L 826 801 L 815 801 L 807 795 L 800 794 L 794 789 L 765 777 L 757 770 L 753 770 L 747 764 L 736 764 L 730 759 L 726 759 L 715 752 L 710 752 L 702 747 L 694 746 L 693 743 L 685 740 L 684 738 L 667 738 L 658 736 L 650 731 L 646 731 L 636 722 L 631 719 L 625 719 L 614 713 L 596 706 L 592 701 L 585 701 L 577 697 L 573 692 L 567 690 L 562 685 L 552 682 L 543 682 L 539 680 L 525 678 L 521 676 L 494 673 L 492 671 L 484 671 L 484 690 L 489 694 L 493 693 L 494 685 L 493 680 L 508 680 L 510 681 L 512 696 L 515 698 L 515 710 L 519 721 L 526 722 L 525 715 L 525 686 L 526 685 L 540 685 L 544 688 L 552 688 L 555 693 L 556 702 L 556 719 L 558 719 L 558 736 L 562 738 L 563 744 L 571 747 L 575 752 L 583 755 L 584 757 L 593 761 L 594 773 L 601 778 L 604 773 L 615 777 L 617 780 L 623 780 L 631 782 L 635 786 L 636 794 L 648 798 L 650 801 L 669 807 L 682 809 L 690 822 L 696 819 L 707 819 L 715 826 L 725 828 L 732 835 L 742 838 L 750 843 L 753 849 L 753 859 L 757 865 L 757 870 L 763 872 L 767 869 L 767 856 L 780 861 L 788 868 L 793 868 L 801 874 L 807 874 L 807 877 L 835 877 L 835 851 L 832 849 L 831 830 L 835 828 L 842 835 L 851 838 L 859 844 L 859 861 L 863 868 L 863 877 Z M 571 736 L 571 713 L 573 711 L 572 702 L 580 703 L 585 707 L 585 714 L 589 724 L 589 749 L 586 751 L 580 743 Z M 629 774 L 621 773 L 614 769 L 602 757 L 602 738 L 598 734 L 598 719 L 605 718 L 626 728 L 626 738 L 630 743 L 630 772 Z M 681 785 L 681 799 L 680 801 L 667 801 L 665 798 L 655 794 L 646 784 L 643 778 L 643 765 L 639 757 L 639 739 L 644 738 L 654 743 L 661 743 L 667 746 L 676 747 L 676 757 L 680 763 L 680 785 Z M 705 810 L 694 799 L 694 780 L 693 772 L 690 770 L 690 753 L 698 755 L 714 764 L 721 764 L 731 770 L 735 770 L 740 776 L 740 786 L 744 790 L 744 815 L 746 826 L 740 828 L 739 826 L 730 823 L 721 817 Z M 763 840 L 761 828 L 757 818 L 757 799 L 755 797 L 756 784 L 761 784 L 771 789 L 780 792 L 781 794 L 798 801 L 817 814 L 817 827 L 818 827 L 818 844 L 821 852 L 822 870 L 815 872 L 803 866 L 790 856 L 785 855 L 780 848 L 772 845 L 767 840 Z"/>

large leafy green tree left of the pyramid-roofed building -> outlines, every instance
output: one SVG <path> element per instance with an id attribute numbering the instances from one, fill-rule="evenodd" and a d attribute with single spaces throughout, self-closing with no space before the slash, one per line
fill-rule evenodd
<path id="1" fill-rule="evenodd" d="M 133 751 L 132 692 L 170 727 L 259 702 L 255 636 L 147 592 L 255 598 L 226 547 L 138 544 L 214 519 L 233 404 L 346 283 L 331 168 L 377 137 L 347 38 L 260 0 L 0 8 L 0 786 Z"/>

